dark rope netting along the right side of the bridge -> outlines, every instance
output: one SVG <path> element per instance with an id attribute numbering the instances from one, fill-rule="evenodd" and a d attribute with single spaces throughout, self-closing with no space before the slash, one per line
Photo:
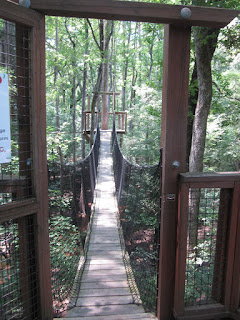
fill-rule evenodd
<path id="1" fill-rule="evenodd" d="M 130 261 L 138 289 L 133 296 L 147 311 L 156 312 L 161 157 L 159 164 L 150 167 L 130 163 L 121 152 L 113 125 L 113 167 L 125 262 Z"/>

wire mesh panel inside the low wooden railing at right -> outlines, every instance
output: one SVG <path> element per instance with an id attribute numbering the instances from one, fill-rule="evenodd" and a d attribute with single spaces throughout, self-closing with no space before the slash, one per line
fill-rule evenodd
<path id="1" fill-rule="evenodd" d="M 190 189 L 185 304 L 221 302 L 226 256 L 225 210 L 219 188 Z"/>

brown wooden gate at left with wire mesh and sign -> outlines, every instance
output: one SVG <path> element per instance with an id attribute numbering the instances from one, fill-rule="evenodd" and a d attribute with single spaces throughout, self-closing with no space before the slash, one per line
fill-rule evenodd
<path id="1" fill-rule="evenodd" d="M 1 151 L 3 141 L 10 146 L 8 158 L 0 155 L 1 319 L 50 319 L 45 22 L 43 15 L 5 0 L 0 83 L 1 114 L 10 110 L 10 133 L 5 124 L 0 128 Z M 2 102 L 7 96 L 9 108 Z"/>

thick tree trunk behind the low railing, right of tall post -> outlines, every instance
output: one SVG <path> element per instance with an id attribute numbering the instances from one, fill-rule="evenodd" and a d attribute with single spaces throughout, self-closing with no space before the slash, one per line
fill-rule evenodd
<path id="1" fill-rule="evenodd" d="M 189 171 L 203 171 L 203 156 L 206 141 L 207 118 L 212 101 L 212 70 L 211 61 L 216 49 L 219 30 L 209 28 L 195 28 L 195 52 L 198 76 L 198 100 L 193 123 L 192 146 L 189 158 Z M 194 193 L 194 196 L 193 196 Z M 191 200 L 192 199 L 192 200 Z M 189 244 L 197 245 L 198 213 L 200 191 L 191 192 Z"/>

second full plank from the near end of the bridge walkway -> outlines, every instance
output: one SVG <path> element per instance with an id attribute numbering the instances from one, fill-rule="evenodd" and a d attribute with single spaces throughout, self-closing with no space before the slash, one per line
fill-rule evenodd
<path id="1" fill-rule="evenodd" d="M 81 297 L 77 300 L 76 307 L 91 307 L 91 306 L 109 306 L 109 305 L 128 305 L 133 304 L 132 295 L 126 296 L 105 296 L 105 297 Z"/>

